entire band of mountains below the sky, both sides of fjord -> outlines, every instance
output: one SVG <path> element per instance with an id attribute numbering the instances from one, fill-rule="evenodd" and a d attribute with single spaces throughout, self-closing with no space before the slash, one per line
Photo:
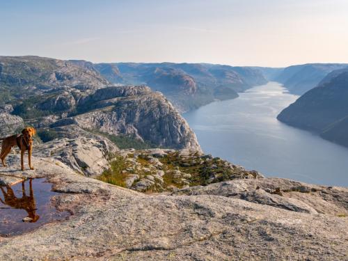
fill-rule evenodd
<path id="1" fill-rule="evenodd" d="M 86 125 L 96 129 L 103 128 L 95 125 L 97 118 L 108 122 L 111 127 L 105 127 L 107 133 L 117 127 L 113 134 L 132 135 L 172 148 L 185 148 L 191 143 L 196 148 L 196 138 L 168 100 L 178 111 L 189 111 L 214 100 L 233 99 L 238 97 L 238 92 L 267 81 L 279 81 L 291 93 L 309 90 L 282 111 L 279 120 L 348 145 L 345 138 L 348 129 L 347 72 L 348 64 L 339 63 L 262 68 L 207 63 L 91 63 L 38 56 L 0 56 L 0 106 L 42 127 L 57 128 L 59 125 L 61 128 L 77 123 L 83 127 L 84 120 L 79 116 L 83 114 L 90 120 Z M 150 86 L 152 92 L 144 85 Z M 117 86 L 124 87 L 115 88 Z M 156 90 L 166 97 L 157 95 Z M 130 105 L 139 106 L 139 115 L 132 114 L 134 110 L 129 110 Z M 110 109 L 127 120 L 116 120 L 107 111 Z M 149 109 L 159 110 L 152 115 L 155 121 L 174 120 L 179 129 L 183 128 L 184 136 L 169 139 L 176 135 L 175 131 L 164 134 L 160 125 L 155 126 L 157 136 L 161 136 L 159 140 L 141 133 L 139 127 L 152 124 L 139 118 L 148 115 Z M 11 117 L 3 115 L 4 121 Z"/>

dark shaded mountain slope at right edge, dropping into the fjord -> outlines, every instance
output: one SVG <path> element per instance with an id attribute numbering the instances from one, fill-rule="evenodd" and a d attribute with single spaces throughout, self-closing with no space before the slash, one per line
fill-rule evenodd
<path id="1" fill-rule="evenodd" d="M 321 134 L 341 145 L 347 142 L 348 68 L 333 71 L 278 115 L 278 120 Z"/>

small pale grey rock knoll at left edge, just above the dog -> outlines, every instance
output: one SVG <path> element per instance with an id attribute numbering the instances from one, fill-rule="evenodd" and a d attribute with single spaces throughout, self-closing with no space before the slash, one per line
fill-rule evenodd
<path id="1" fill-rule="evenodd" d="M 24 121 L 19 116 L 11 115 L 3 110 L 0 111 L 0 138 L 21 132 Z"/>

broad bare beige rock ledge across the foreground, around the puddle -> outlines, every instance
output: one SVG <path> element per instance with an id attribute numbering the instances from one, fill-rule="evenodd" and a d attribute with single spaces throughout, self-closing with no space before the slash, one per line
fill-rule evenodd
<path id="1" fill-rule="evenodd" d="M 72 216 L 0 237 L 0 260 L 347 260 L 348 189 L 285 179 L 232 180 L 145 194 L 79 175 L 56 159 L 19 157 L 2 184 L 47 177 Z"/>

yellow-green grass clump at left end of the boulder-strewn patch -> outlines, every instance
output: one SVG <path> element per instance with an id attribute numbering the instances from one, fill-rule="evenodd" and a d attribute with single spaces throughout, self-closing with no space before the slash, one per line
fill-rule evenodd
<path id="1" fill-rule="evenodd" d="M 101 180 L 103 182 L 107 182 L 116 186 L 126 187 L 125 179 L 127 177 L 127 173 L 125 169 L 127 168 L 127 164 L 125 163 L 125 159 L 123 157 L 116 157 L 111 161 L 111 167 L 104 171 L 102 175 L 97 177 L 97 180 Z"/>

